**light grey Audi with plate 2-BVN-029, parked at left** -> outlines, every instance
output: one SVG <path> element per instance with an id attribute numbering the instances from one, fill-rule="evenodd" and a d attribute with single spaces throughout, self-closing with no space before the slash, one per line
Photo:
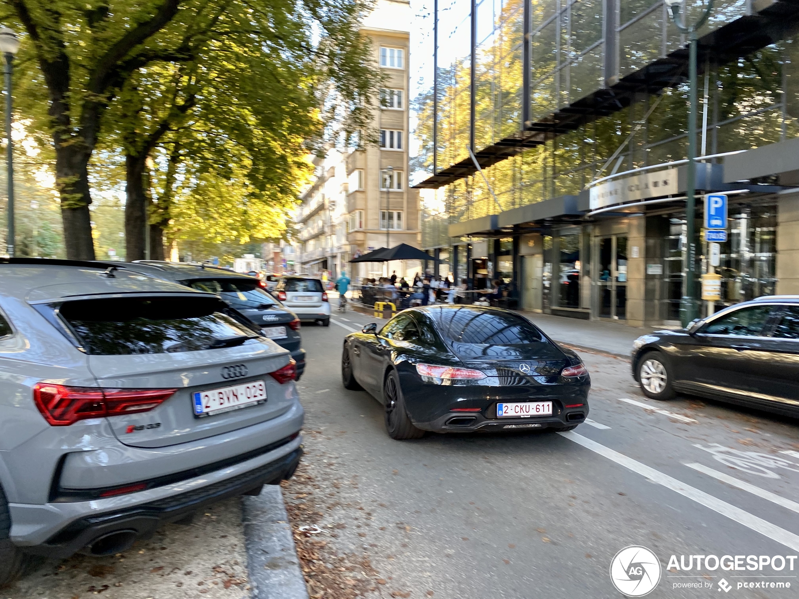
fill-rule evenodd
<path id="1" fill-rule="evenodd" d="M 290 352 L 213 293 L 0 259 L 0 586 L 107 555 L 300 462 Z"/>

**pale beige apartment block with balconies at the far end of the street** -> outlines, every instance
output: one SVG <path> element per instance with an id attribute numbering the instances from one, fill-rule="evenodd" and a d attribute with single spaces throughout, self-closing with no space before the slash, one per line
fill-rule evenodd
<path id="1" fill-rule="evenodd" d="M 361 33 L 386 78 L 372 121 L 379 142 L 331 149 L 316 159 L 314 180 L 295 216 L 298 272 L 335 279 L 345 269 L 353 278 L 380 276 L 380 264 L 349 260 L 398 244 L 419 247 L 419 191 L 407 184 L 410 20 L 404 0 L 380 0 L 364 18 Z"/>

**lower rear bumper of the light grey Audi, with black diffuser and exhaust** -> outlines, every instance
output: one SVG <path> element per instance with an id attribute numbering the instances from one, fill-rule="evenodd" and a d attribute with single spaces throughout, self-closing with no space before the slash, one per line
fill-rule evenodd
<path id="1" fill-rule="evenodd" d="M 279 484 L 294 474 L 301 455 L 300 438 L 296 438 L 236 466 L 141 493 L 93 502 L 11 504 L 11 540 L 26 553 L 69 557 L 94 539 L 120 530 L 146 538 L 165 522 L 181 520 L 261 485 Z M 42 534 L 45 540 L 36 541 Z"/>

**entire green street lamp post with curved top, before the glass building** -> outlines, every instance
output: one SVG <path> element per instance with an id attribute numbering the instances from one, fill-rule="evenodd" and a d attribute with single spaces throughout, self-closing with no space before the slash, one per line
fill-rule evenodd
<path id="1" fill-rule="evenodd" d="M 696 234 L 696 137 L 697 137 L 697 31 L 706 23 L 713 10 L 714 0 L 708 0 L 702 16 L 693 25 L 686 25 L 680 14 L 683 0 L 664 0 L 670 9 L 674 25 L 688 36 L 688 176 L 686 177 L 686 241 L 688 256 L 686 284 L 680 300 L 680 321 L 687 326 L 699 316 L 697 294 L 697 234 Z"/>

